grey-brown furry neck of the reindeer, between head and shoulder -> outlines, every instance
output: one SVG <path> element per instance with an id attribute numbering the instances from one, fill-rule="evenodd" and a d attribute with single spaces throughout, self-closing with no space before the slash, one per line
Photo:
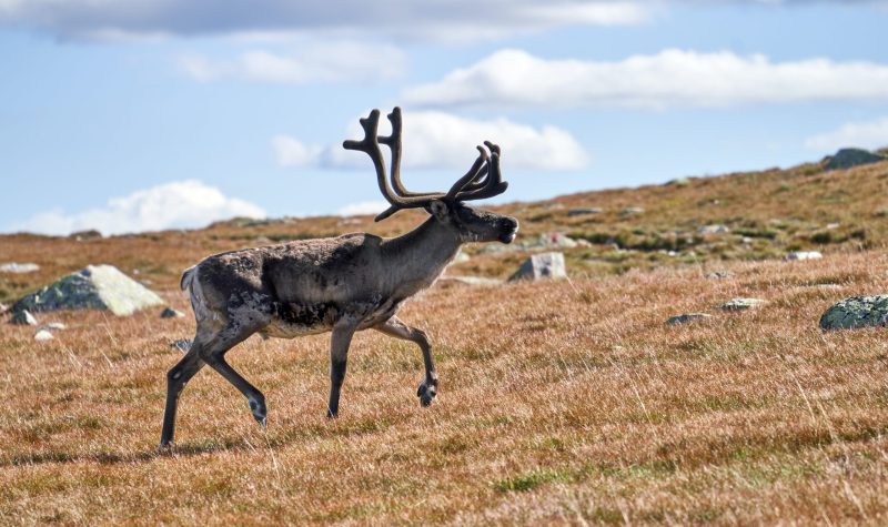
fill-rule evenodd
<path id="1" fill-rule="evenodd" d="M 384 260 L 389 265 L 393 283 L 413 294 L 431 285 L 456 256 L 462 242 L 456 234 L 430 217 L 413 231 L 387 240 Z"/>

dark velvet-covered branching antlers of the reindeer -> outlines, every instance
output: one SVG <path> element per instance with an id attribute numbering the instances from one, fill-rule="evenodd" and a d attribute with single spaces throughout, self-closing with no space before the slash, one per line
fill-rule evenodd
<path id="1" fill-rule="evenodd" d="M 364 119 L 361 119 L 361 128 L 364 129 L 364 138 L 360 141 L 347 140 L 342 143 L 346 150 L 356 150 L 366 153 L 376 169 L 376 180 L 380 184 L 380 192 L 391 204 L 389 209 L 380 213 L 375 221 L 385 220 L 395 212 L 403 209 L 420 209 L 428 206 L 434 200 L 445 200 L 451 202 L 483 200 L 505 192 L 508 183 L 502 181 L 500 173 L 500 146 L 484 141 L 490 150 L 490 155 L 482 148 L 478 149 L 478 158 L 468 169 L 468 172 L 460 178 L 446 193 L 443 192 L 411 192 L 401 182 L 401 109 L 395 107 L 389 114 L 392 123 L 391 135 L 377 135 L 380 124 L 380 111 L 373 110 Z M 385 179 L 385 160 L 382 156 L 380 143 L 385 144 L 392 152 L 392 184 Z"/>

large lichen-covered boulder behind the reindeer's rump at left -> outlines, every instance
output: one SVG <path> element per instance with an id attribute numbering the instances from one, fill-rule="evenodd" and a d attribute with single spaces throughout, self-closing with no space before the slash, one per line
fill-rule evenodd
<path id="1" fill-rule="evenodd" d="M 12 311 L 108 310 L 118 316 L 127 316 L 161 304 L 163 300 L 157 293 L 117 267 L 89 265 L 20 298 L 12 305 Z"/>

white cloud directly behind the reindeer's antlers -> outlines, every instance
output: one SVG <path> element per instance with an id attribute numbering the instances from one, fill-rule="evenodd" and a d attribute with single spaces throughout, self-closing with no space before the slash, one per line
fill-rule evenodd
<path id="1" fill-rule="evenodd" d="M 346 132 L 360 139 L 357 119 Z M 387 134 L 382 118 L 380 134 Z M 490 140 L 503 149 L 503 163 L 509 168 L 573 170 L 586 166 L 589 156 L 569 132 L 557 126 L 534 128 L 508 119 L 481 121 L 437 111 L 404 115 L 404 169 L 467 169 L 477 155 L 475 145 Z M 359 168 L 367 166 L 364 154 L 346 151 L 341 144 L 320 148 L 279 135 L 272 140 L 278 162 L 284 166 Z"/>

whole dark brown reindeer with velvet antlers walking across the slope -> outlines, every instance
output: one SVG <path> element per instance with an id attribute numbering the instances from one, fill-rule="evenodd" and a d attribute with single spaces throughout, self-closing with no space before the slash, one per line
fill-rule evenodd
<path id="1" fill-rule="evenodd" d="M 437 394 L 437 373 L 428 339 L 395 313 L 405 300 L 430 287 L 466 242 L 511 243 L 518 222 L 464 204 L 505 192 L 500 148 L 485 141 L 468 172 L 446 193 L 411 192 L 401 182 L 401 109 L 389 114 L 392 134 L 377 135 L 380 111 L 361 119 L 364 138 L 343 148 L 366 153 L 376 169 L 380 191 L 391 206 L 375 221 L 405 209 L 431 214 L 422 225 L 397 237 L 345 234 L 283 245 L 244 249 L 210 256 L 188 268 L 181 287 L 191 296 L 196 333 L 191 348 L 167 374 L 167 406 L 161 447 L 173 439 L 179 395 L 204 365 L 219 372 L 245 397 L 264 427 L 265 396 L 234 371 L 225 353 L 253 334 L 293 338 L 332 332 L 327 417 L 336 417 L 352 335 L 376 330 L 420 346 L 425 379 L 416 392 L 422 406 Z M 391 186 L 380 148 L 391 150 Z M 490 152 L 490 153 L 488 153 Z"/>

